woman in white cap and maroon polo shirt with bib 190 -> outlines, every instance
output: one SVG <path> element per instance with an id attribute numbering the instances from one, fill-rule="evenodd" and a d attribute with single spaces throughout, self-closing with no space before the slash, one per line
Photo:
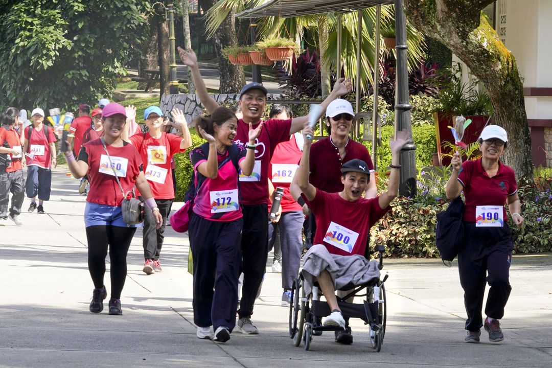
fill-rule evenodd
<path id="1" fill-rule="evenodd" d="M 458 254 L 460 284 L 464 289 L 464 305 L 468 313 L 465 329 L 468 343 L 479 343 L 480 328 L 489 332 L 491 342 L 504 339 L 500 322 L 512 287 L 509 268 L 512 262 L 512 233 L 508 227 L 505 204 L 513 222 L 523 225 L 519 215 L 521 204 L 517 194 L 516 173 L 500 162 L 508 137 L 506 130 L 489 125 L 481 132 L 479 149 L 482 157 L 462 163 L 456 153 L 452 159 L 452 174 L 447 183 L 447 198 L 457 198 L 464 191 L 465 247 Z M 485 296 L 485 281 L 489 295 L 485 306 L 485 322 L 481 308 Z"/>

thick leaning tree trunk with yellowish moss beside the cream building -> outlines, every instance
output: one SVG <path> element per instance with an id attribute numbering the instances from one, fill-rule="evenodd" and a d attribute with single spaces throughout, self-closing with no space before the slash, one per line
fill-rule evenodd
<path id="1" fill-rule="evenodd" d="M 447 45 L 484 83 L 493 121 L 508 132 L 505 162 L 517 177 L 533 177 L 531 137 L 516 60 L 481 13 L 493 0 L 404 0 L 408 20 Z"/>

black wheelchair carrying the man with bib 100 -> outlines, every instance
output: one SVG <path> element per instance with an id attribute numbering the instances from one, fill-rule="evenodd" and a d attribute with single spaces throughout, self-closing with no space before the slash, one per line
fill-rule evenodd
<path id="1" fill-rule="evenodd" d="M 376 247 L 379 252 L 379 269 L 383 269 L 384 246 Z M 343 313 L 343 317 L 360 318 L 364 324 L 370 327 L 370 343 L 376 351 L 381 351 L 381 345 L 385 337 L 385 324 L 387 321 L 387 306 L 385 301 L 385 285 L 389 275 L 383 279 L 371 279 L 362 285 L 346 285 L 339 290 L 351 290 L 346 296 L 337 296 L 337 303 Z M 319 286 L 315 282 L 312 294 L 305 295 L 305 279 L 301 273 L 293 281 L 291 289 L 291 303 L 289 305 L 289 337 L 295 346 L 304 344 L 305 350 L 310 349 L 312 337 L 321 335 L 323 331 L 342 331 L 341 327 L 322 326 L 322 317 L 329 316 L 330 306 L 325 301 L 320 301 L 322 295 Z M 352 290 L 353 289 L 353 290 Z M 364 294 L 360 294 L 363 292 Z M 352 296 L 365 297 L 363 303 L 348 303 L 346 300 Z"/>

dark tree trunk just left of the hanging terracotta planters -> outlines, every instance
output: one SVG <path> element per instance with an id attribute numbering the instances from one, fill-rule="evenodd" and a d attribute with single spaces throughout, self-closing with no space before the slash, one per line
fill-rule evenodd
<path id="1" fill-rule="evenodd" d="M 205 6 L 211 8 L 216 0 L 205 0 Z M 203 9 L 207 11 L 208 9 Z M 219 93 L 239 93 L 245 84 L 245 74 L 241 65 L 232 65 L 222 56 L 226 46 L 237 45 L 234 11 L 228 14 L 213 36 L 215 52 L 219 58 L 220 88 Z"/>

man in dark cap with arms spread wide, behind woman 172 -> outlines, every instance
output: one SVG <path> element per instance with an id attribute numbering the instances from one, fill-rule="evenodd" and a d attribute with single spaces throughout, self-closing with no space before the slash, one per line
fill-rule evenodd
<path id="1" fill-rule="evenodd" d="M 190 49 L 185 51 L 178 47 L 182 62 L 192 71 L 192 78 L 201 103 L 209 111 L 220 107 L 219 103 L 207 92 L 201 79 L 198 59 Z M 328 104 L 352 89 L 349 79 L 339 79 L 331 94 L 320 104 L 322 113 Z M 260 122 L 267 105 L 267 89 L 259 83 L 249 83 L 240 92 L 238 106 L 243 118 L 238 121 L 236 143 L 247 143 L 249 123 L 256 127 Z M 263 280 L 268 258 L 268 164 L 275 146 L 289 140 L 289 136 L 298 132 L 308 122 L 308 116 L 300 116 L 290 120 L 269 119 L 264 122 L 261 135 L 255 141 L 255 166 L 252 175 L 240 175 L 240 185 L 243 193 L 243 232 L 242 232 L 242 271 L 243 286 L 240 301 L 240 318 L 238 330 L 246 334 L 257 334 L 257 327 L 251 322 L 253 305 L 257 291 Z"/>

